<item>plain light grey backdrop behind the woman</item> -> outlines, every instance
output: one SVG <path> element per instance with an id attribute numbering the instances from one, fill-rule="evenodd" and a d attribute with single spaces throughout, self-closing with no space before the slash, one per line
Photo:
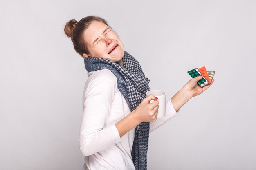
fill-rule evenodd
<path id="1" fill-rule="evenodd" d="M 150 133 L 148 170 L 256 169 L 256 1 L 0 2 L 0 169 L 81 170 L 87 71 L 65 35 L 98 15 L 171 98 L 187 71 L 216 71 L 211 88 Z"/>

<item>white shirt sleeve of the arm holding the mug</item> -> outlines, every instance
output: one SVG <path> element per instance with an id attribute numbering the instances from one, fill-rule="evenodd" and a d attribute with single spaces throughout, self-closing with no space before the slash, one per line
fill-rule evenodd
<path id="1" fill-rule="evenodd" d="M 105 126 L 117 91 L 117 80 L 113 78 L 115 77 L 109 79 L 103 75 L 97 76 L 86 89 L 79 134 L 79 148 L 84 156 L 121 141 L 115 124 Z"/>

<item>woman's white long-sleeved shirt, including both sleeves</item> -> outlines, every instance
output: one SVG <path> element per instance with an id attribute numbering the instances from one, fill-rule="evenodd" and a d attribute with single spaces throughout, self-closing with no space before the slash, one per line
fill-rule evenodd
<path id="1" fill-rule="evenodd" d="M 128 103 L 117 87 L 117 77 L 110 70 L 88 72 L 79 134 L 79 147 L 85 156 L 83 170 L 135 170 L 131 156 L 135 128 L 120 138 L 115 126 L 131 113 Z M 150 122 L 149 132 L 175 115 L 177 112 L 169 99 L 165 117 Z"/>

